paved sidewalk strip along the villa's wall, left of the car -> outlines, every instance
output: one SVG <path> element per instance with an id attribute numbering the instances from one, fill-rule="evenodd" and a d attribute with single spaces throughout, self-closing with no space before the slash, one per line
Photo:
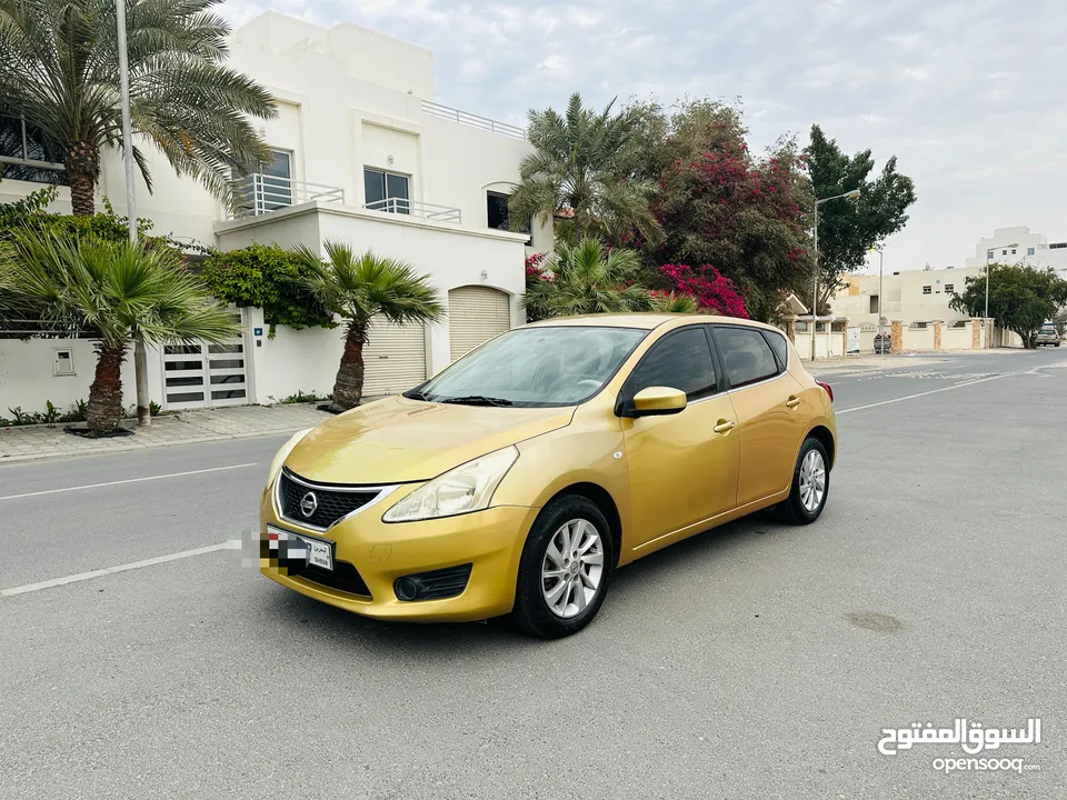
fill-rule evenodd
<path id="1" fill-rule="evenodd" d="M 222 439 L 243 439 L 265 433 L 289 433 L 325 422 L 330 416 L 316 403 L 292 406 L 238 406 L 205 411 L 182 411 L 153 417 L 151 427 L 137 428 L 134 420 L 123 427 L 133 436 L 83 439 L 63 431 L 62 424 L 0 429 L 0 464 L 34 459 L 87 456 L 146 448 L 192 444 Z"/>

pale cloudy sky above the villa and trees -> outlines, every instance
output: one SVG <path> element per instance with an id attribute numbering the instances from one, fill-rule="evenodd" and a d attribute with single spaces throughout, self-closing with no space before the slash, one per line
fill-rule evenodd
<path id="1" fill-rule="evenodd" d="M 1067 241 L 1067 0 L 227 0 L 433 51 L 436 100 L 522 124 L 612 98 L 740 99 L 754 149 L 818 123 L 896 154 L 910 220 L 885 269 L 963 267 L 995 228 Z M 877 269 L 876 262 L 871 262 Z"/>

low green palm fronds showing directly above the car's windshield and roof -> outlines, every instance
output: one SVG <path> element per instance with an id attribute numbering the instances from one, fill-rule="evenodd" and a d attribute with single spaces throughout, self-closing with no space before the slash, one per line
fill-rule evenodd
<path id="1" fill-rule="evenodd" d="M 545 279 L 527 288 L 523 303 L 537 319 L 651 311 L 648 290 L 634 282 L 640 264 L 632 250 L 608 251 L 597 239 L 559 242 Z"/>

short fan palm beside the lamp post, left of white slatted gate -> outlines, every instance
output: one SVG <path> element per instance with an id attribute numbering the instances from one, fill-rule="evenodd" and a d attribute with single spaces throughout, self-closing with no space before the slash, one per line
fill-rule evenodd
<path id="1" fill-rule="evenodd" d="M 221 342 L 240 332 L 166 247 L 20 231 L 0 250 L 0 284 L 41 320 L 94 334 L 86 419 L 96 434 L 114 431 L 122 419 L 121 368 L 131 342 Z"/>

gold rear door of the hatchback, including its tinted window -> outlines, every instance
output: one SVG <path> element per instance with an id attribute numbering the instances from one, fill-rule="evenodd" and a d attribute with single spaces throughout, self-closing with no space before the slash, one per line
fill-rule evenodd
<path id="1" fill-rule="evenodd" d="M 788 358 L 789 352 L 778 333 L 748 326 L 716 324 L 712 336 L 737 414 L 737 504 L 741 507 L 789 487 L 807 430 L 800 400 L 802 387 L 775 353 L 784 350 Z M 771 339 L 776 336 L 781 338 L 780 343 Z M 772 343 L 779 347 L 771 347 Z"/>

